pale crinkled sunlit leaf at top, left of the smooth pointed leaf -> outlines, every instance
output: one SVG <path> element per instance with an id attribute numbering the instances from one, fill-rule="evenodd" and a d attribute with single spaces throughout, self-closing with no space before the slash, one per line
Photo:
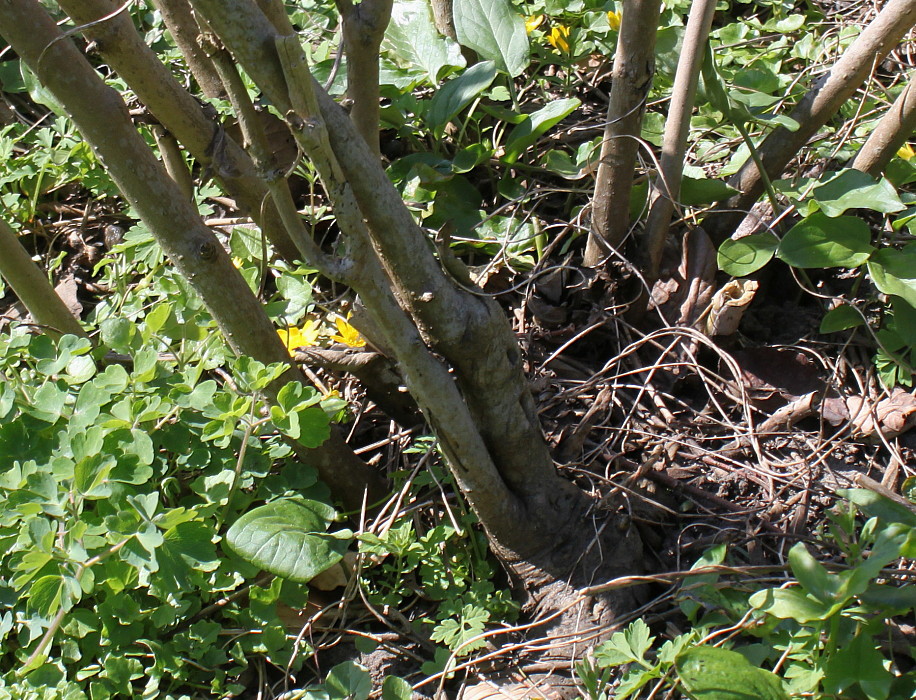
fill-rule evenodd
<path id="1" fill-rule="evenodd" d="M 442 69 L 465 65 L 461 47 L 436 29 L 433 13 L 426 0 L 398 0 L 391 9 L 391 21 L 385 30 L 383 49 L 399 65 L 422 66 L 435 85 Z"/>

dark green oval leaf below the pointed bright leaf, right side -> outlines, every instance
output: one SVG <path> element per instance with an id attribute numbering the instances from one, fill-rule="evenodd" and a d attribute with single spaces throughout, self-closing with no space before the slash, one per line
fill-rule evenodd
<path id="1" fill-rule="evenodd" d="M 786 233 L 776 257 L 792 267 L 854 268 L 873 251 L 871 230 L 862 219 L 815 212 Z"/>

